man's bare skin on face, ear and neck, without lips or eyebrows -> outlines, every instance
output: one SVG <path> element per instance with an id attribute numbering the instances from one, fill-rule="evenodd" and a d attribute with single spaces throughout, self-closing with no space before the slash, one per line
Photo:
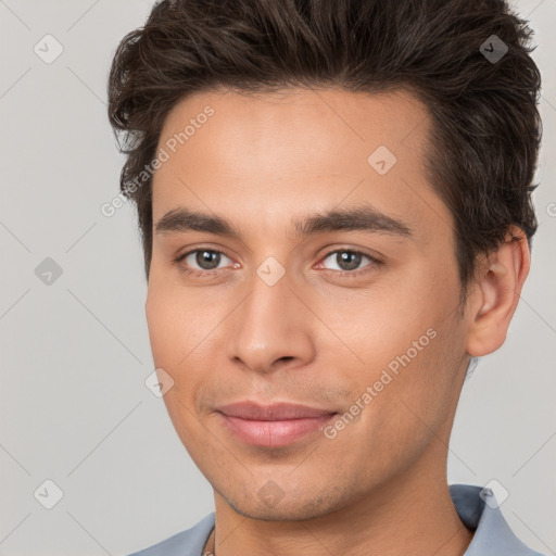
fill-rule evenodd
<path id="1" fill-rule="evenodd" d="M 167 410 L 214 489 L 215 553 L 464 554 L 472 533 L 447 490 L 450 432 L 469 356 L 506 338 L 529 271 L 522 232 L 480 258 L 459 307 L 454 220 L 425 177 L 431 124 L 415 97 L 205 91 L 174 108 L 160 146 L 207 104 L 214 115 L 156 170 L 153 222 L 185 206 L 225 217 L 241 240 L 154 233 L 146 312 L 155 366 L 174 380 Z M 384 175 L 367 163 L 381 144 L 397 159 Z M 369 203 L 412 238 L 293 235 L 292 218 Z M 193 249 L 224 255 L 174 262 Z M 366 273 L 342 276 L 342 250 L 383 264 L 363 257 Z M 269 256 L 286 271 L 271 287 L 256 274 Z M 253 400 L 343 414 L 428 329 L 435 338 L 333 439 L 252 446 L 215 410 Z"/>

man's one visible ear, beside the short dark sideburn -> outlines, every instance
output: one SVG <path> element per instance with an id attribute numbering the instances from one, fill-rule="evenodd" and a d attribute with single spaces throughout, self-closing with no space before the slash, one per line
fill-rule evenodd
<path id="1" fill-rule="evenodd" d="M 531 257 L 527 237 L 513 226 L 497 251 L 479 264 L 468 300 L 467 353 L 473 357 L 496 351 L 506 340 Z"/>

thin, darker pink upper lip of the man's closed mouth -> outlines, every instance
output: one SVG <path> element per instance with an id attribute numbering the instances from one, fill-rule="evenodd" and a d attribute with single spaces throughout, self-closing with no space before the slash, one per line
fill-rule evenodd
<path id="1" fill-rule="evenodd" d="M 251 419 L 258 421 L 279 421 L 287 419 L 306 419 L 332 415 L 337 412 L 329 409 L 319 409 L 301 404 L 275 403 L 271 405 L 262 405 L 255 402 L 237 402 L 223 405 L 216 408 L 229 417 L 239 417 L 241 419 Z"/>

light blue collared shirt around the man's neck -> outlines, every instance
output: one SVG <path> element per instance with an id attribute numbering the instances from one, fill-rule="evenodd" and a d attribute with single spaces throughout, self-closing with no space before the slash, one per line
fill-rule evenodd
<path id="1" fill-rule="evenodd" d="M 543 556 L 526 546 L 511 531 L 491 492 L 471 484 L 451 484 L 450 495 L 459 519 L 475 531 L 465 556 Z M 489 504 L 486 504 L 489 502 Z M 214 511 L 191 529 L 129 556 L 202 556 L 214 529 Z"/>

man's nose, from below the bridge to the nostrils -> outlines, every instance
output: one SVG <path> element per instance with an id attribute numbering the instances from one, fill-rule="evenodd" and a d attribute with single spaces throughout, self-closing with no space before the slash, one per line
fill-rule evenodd
<path id="1" fill-rule="evenodd" d="M 233 312 L 228 357 L 260 374 L 307 365 L 315 357 L 315 316 L 301 296 L 287 274 L 274 286 L 254 275 L 251 293 Z"/>

